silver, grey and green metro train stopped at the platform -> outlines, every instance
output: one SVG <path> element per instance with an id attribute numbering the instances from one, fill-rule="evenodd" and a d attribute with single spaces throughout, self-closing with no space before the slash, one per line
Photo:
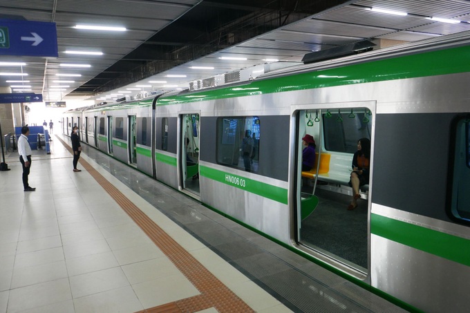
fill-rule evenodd
<path id="1" fill-rule="evenodd" d="M 470 310 L 470 32 L 227 81 L 67 111 L 62 131 L 408 310 Z"/>

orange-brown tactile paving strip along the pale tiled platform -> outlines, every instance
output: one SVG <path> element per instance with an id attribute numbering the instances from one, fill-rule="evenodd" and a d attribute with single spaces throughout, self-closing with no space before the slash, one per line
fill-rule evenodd
<path id="1" fill-rule="evenodd" d="M 68 151 L 72 149 L 61 138 L 56 136 Z M 158 307 L 152 307 L 141 312 L 198 312 L 214 307 L 218 312 L 254 312 L 245 302 L 238 298 L 232 290 L 229 290 L 222 282 L 209 272 L 202 264 L 191 256 L 183 247 L 178 245 L 173 238 L 163 231 L 153 220 L 145 215 L 131 200 L 126 198 L 116 187 L 95 170 L 88 162 L 79 159 L 82 167 L 100 183 L 104 190 L 122 207 L 134 222 L 144 231 L 157 247 L 171 260 L 171 262 L 186 276 L 186 278 L 198 289 L 200 294 L 167 303 Z M 156 295 L 158 296 L 158 295 Z"/>

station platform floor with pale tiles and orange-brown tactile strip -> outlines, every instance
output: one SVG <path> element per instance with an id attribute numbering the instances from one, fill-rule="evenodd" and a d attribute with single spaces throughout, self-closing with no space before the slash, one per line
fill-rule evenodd
<path id="1" fill-rule="evenodd" d="M 83 145 L 0 172 L 0 312 L 406 312 Z"/>

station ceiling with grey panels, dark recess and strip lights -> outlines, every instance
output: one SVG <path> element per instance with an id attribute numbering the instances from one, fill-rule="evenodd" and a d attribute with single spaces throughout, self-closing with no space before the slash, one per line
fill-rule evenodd
<path id="1" fill-rule="evenodd" d="M 470 30 L 470 1 L 0 0 L 0 18 L 57 24 L 59 57 L 0 56 L 0 62 L 26 63 L 21 68 L 0 66 L 1 73 L 28 74 L 23 78 L 2 75 L 0 86 L 30 86 L 12 89 L 60 101 L 66 96 L 97 98 L 114 93 L 121 97 L 124 94 L 119 91 L 188 88 L 196 79 L 275 60 L 298 62 L 306 53 L 364 39 L 379 48 Z M 120 26 L 126 31 L 82 30 L 77 25 Z M 102 54 L 66 53 L 69 50 Z M 209 68 L 190 68 L 194 66 Z M 15 91 L 19 89 L 23 91 Z"/>

